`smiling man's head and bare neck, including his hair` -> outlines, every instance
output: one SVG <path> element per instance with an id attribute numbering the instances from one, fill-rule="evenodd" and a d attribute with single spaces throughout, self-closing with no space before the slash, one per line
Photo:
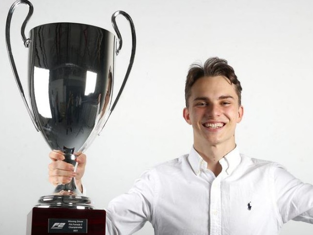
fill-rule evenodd
<path id="1" fill-rule="evenodd" d="M 235 128 L 243 115 L 242 88 L 226 62 L 212 58 L 204 68 L 193 65 L 189 70 L 184 118 L 192 125 L 194 148 L 217 176 L 219 159 L 235 148 Z"/>

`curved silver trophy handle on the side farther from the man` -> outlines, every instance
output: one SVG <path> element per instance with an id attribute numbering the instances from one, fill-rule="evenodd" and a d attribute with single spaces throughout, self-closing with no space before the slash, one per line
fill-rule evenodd
<path id="1" fill-rule="evenodd" d="M 11 49 L 11 42 L 10 42 L 10 26 L 11 26 L 11 18 L 12 18 L 12 15 L 13 15 L 13 12 L 15 10 L 15 8 L 17 7 L 18 4 L 20 3 L 24 3 L 24 4 L 27 4 L 29 6 L 29 12 L 28 12 L 28 15 L 26 16 L 24 22 L 23 22 L 23 25 L 21 27 L 21 35 L 22 35 L 22 39 L 23 39 L 23 42 L 24 42 L 24 46 L 25 47 L 29 47 L 30 46 L 30 43 L 31 43 L 31 39 L 29 38 L 26 38 L 25 37 L 25 26 L 28 22 L 28 20 L 31 18 L 31 15 L 32 15 L 32 12 L 33 12 L 33 7 L 32 7 L 32 4 L 30 1 L 28 0 L 17 0 L 13 3 L 13 5 L 11 6 L 10 10 L 9 10 L 9 13 L 8 13 L 8 16 L 7 16 L 7 19 L 6 19 L 6 25 L 5 25 L 5 42 L 6 42 L 6 47 L 7 47 L 7 51 L 8 51 L 8 54 L 9 54 L 9 59 L 10 59 L 10 63 L 11 63 L 11 67 L 12 67 L 12 70 L 13 70 L 13 73 L 14 73 L 14 77 L 15 77 L 15 80 L 16 80 L 16 84 L 18 86 L 18 89 L 19 89 L 19 93 L 21 94 L 22 96 L 22 99 L 24 101 L 24 104 L 26 106 L 26 109 L 29 113 L 29 115 L 31 116 L 31 121 L 33 123 L 33 125 L 35 126 L 36 130 L 39 131 L 39 127 L 38 127 L 38 124 L 37 124 L 37 121 L 36 121 L 36 118 L 35 118 L 35 115 L 33 114 L 33 112 L 31 111 L 31 109 L 29 108 L 29 105 L 26 101 L 26 98 L 25 98 L 25 95 L 24 95 L 24 90 L 23 90 L 23 87 L 22 87 L 22 84 L 21 84 L 21 81 L 18 77 L 18 74 L 17 74 L 17 70 L 16 70 L 16 65 L 15 65 L 15 62 L 14 62 L 14 58 L 13 58 L 13 54 L 12 54 L 12 49 Z"/>

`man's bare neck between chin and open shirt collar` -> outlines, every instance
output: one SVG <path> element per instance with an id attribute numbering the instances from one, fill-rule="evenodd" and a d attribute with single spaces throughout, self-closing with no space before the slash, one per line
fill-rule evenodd
<path id="1" fill-rule="evenodd" d="M 225 145 L 197 145 L 194 143 L 194 148 L 198 154 L 207 162 L 207 169 L 211 170 L 215 176 L 218 176 L 222 170 L 219 160 L 231 152 L 236 147 L 235 142 Z"/>

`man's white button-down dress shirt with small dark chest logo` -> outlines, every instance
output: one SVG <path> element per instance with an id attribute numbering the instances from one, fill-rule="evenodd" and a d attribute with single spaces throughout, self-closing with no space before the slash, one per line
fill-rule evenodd
<path id="1" fill-rule="evenodd" d="M 110 202 L 107 235 L 132 234 L 146 221 L 156 235 L 278 235 L 290 219 L 313 223 L 313 186 L 281 165 L 238 147 L 219 163 L 216 177 L 192 148 L 143 172 Z"/>

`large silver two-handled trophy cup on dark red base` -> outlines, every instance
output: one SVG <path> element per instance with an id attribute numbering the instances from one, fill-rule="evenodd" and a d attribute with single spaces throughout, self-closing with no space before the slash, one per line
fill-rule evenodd
<path id="1" fill-rule="evenodd" d="M 11 18 L 20 3 L 29 6 L 21 27 L 24 45 L 29 48 L 29 99 L 17 74 L 10 44 Z M 32 13 L 33 6 L 28 0 L 16 0 L 9 10 L 6 45 L 12 70 L 37 131 L 51 149 L 63 151 L 65 161 L 76 166 L 74 152 L 86 150 L 100 134 L 123 92 L 135 56 L 134 25 L 127 13 L 117 11 L 111 17 L 117 38 L 99 27 L 64 22 L 37 26 L 26 38 L 25 26 Z M 132 50 L 125 78 L 113 102 L 114 61 L 122 48 L 115 21 L 118 15 L 130 24 Z M 39 199 L 29 215 L 28 229 L 31 235 L 104 234 L 105 215 L 104 210 L 95 210 L 91 200 L 81 194 L 73 178 Z"/>

